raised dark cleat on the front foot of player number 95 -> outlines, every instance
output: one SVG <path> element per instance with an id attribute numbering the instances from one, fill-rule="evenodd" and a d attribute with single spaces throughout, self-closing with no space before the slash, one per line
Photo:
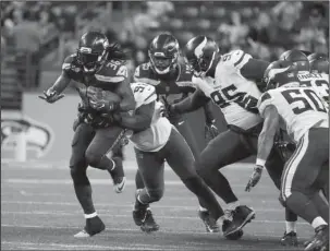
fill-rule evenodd
<path id="1" fill-rule="evenodd" d="M 241 230 L 246 224 L 256 217 L 256 213 L 246 205 L 240 205 L 233 211 L 233 220 L 223 231 L 223 236 L 228 237 Z"/>

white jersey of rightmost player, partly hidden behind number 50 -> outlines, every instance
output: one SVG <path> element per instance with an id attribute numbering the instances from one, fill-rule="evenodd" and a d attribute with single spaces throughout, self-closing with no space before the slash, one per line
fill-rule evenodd
<path id="1" fill-rule="evenodd" d="M 297 77 L 301 86 L 315 88 L 319 96 L 327 103 L 327 109 L 329 109 L 329 74 L 300 72 Z"/>

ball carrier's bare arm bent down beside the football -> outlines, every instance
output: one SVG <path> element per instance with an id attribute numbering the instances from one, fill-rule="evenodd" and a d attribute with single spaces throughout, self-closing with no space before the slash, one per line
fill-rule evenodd
<path id="1" fill-rule="evenodd" d="M 132 88 L 130 87 L 129 79 L 125 79 L 118 86 L 117 94 L 121 96 L 122 100 L 119 104 L 120 111 L 129 111 L 135 109 L 135 99 Z"/>

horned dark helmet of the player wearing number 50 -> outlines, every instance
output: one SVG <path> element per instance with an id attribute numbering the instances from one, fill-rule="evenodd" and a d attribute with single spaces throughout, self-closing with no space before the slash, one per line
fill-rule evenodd
<path id="1" fill-rule="evenodd" d="M 266 89 L 278 88 L 289 83 L 300 86 L 297 72 L 293 62 L 278 60 L 268 65 L 264 73 L 262 82 L 266 84 Z"/>

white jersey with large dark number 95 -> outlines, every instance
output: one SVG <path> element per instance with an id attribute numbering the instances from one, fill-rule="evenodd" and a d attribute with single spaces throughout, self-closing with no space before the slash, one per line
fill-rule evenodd
<path id="1" fill-rule="evenodd" d="M 193 77 L 196 87 L 220 107 L 227 123 L 244 130 L 262 121 L 256 107 L 261 93 L 255 82 L 241 74 L 241 69 L 250 58 L 242 50 L 233 50 L 222 56 L 215 79 Z M 249 108 L 254 108 L 256 113 Z"/>

